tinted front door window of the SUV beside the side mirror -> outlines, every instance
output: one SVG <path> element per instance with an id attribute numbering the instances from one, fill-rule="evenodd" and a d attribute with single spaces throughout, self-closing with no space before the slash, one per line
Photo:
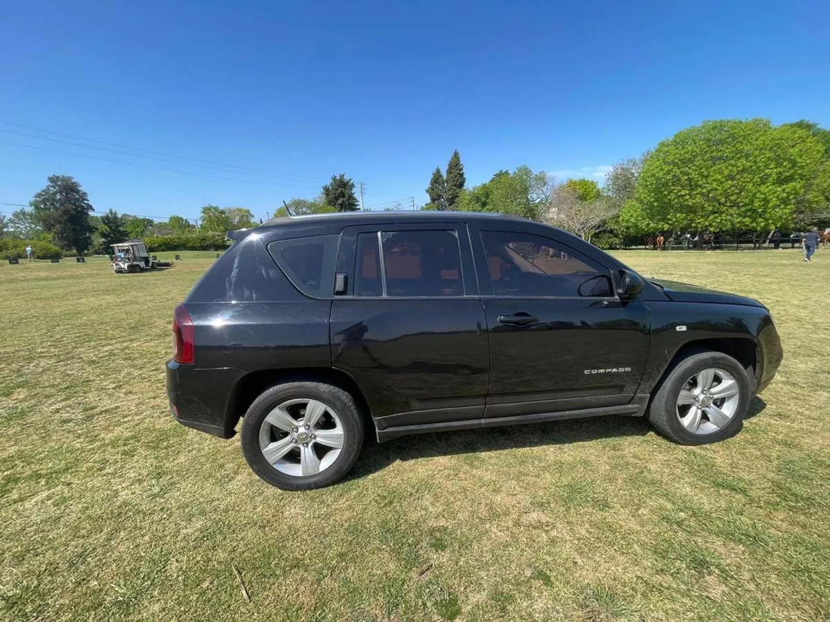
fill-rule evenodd
<path id="1" fill-rule="evenodd" d="M 610 296 L 608 270 L 542 236 L 481 231 L 496 296 Z"/>

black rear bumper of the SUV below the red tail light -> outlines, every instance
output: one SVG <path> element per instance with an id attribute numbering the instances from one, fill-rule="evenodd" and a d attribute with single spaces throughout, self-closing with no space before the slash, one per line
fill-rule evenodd
<path id="1" fill-rule="evenodd" d="M 180 424 L 222 439 L 236 431 L 227 418 L 227 404 L 243 372 L 233 368 L 196 369 L 172 359 L 165 365 L 170 414 Z"/>

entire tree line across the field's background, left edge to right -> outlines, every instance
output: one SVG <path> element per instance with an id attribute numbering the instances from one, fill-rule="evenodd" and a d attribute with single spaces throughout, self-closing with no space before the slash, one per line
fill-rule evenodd
<path id="1" fill-rule="evenodd" d="M 354 186 L 344 173 L 332 176 L 318 197 L 292 198 L 275 216 L 357 211 Z M 562 227 L 605 248 L 658 233 L 741 236 L 827 226 L 830 130 L 803 119 L 777 126 L 768 119 L 706 121 L 615 164 L 603 185 L 585 178 L 559 182 L 544 171 L 520 166 L 468 187 L 456 150 L 444 170 L 432 172 L 426 192 L 424 210 L 514 214 Z M 198 226 L 182 216 L 154 221 L 113 210 L 94 216 L 92 211 L 78 182 L 55 175 L 28 208 L 0 217 L 0 238 L 56 244 L 79 254 L 106 253 L 110 244 L 148 236 L 151 248 L 168 242 L 213 248 L 227 244 L 225 232 L 257 224 L 243 207 L 207 205 Z"/>

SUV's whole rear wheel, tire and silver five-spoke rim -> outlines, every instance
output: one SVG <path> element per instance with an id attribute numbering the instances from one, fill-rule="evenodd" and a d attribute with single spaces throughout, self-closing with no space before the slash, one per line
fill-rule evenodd
<path id="1" fill-rule="evenodd" d="M 321 382 L 287 382 L 251 404 L 242 421 L 242 453 L 268 484 L 320 488 L 349 472 L 363 435 L 363 418 L 349 393 Z"/>

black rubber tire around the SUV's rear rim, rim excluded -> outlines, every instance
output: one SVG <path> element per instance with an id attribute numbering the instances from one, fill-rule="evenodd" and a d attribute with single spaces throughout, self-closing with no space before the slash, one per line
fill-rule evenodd
<path id="1" fill-rule="evenodd" d="M 260 428 L 266 416 L 282 403 L 313 399 L 334 410 L 343 427 L 340 454 L 329 467 L 315 475 L 290 475 L 277 470 L 265 459 L 260 448 Z M 251 470 L 268 484 L 282 490 L 323 488 L 349 473 L 364 440 L 364 421 L 354 399 L 343 389 L 322 382 L 286 382 L 271 386 L 256 398 L 242 420 L 242 454 Z"/>

